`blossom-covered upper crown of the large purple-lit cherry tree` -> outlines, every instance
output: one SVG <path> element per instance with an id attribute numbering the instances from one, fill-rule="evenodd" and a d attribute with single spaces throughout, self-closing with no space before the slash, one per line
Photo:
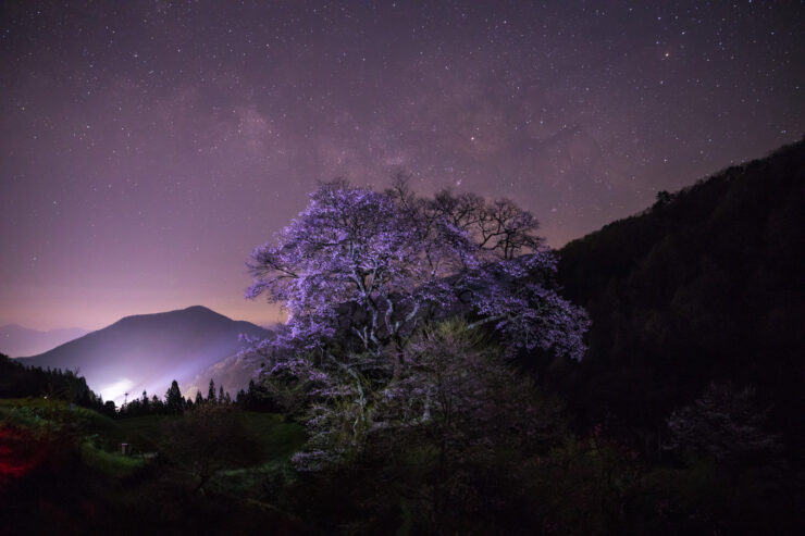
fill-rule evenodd
<path id="1" fill-rule="evenodd" d="M 405 179 L 386 192 L 323 184 L 275 244 L 251 254 L 247 297 L 288 313 L 281 337 L 259 350 L 323 351 L 348 334 L 380 353 L 403 348 L 424 321 L 472 310 L 475 325 L 494 322 L 511 348 L 580 359 L 586 316 L 550 288 L 556 258 L 535 229 L 507 200 L 422 199 Z"/>

